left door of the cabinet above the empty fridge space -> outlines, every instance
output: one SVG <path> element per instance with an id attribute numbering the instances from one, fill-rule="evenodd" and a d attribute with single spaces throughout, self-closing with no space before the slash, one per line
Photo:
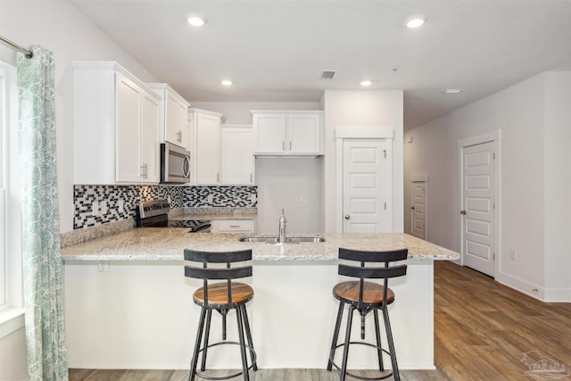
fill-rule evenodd
<path id="1" fill-rule="evenodd" d="M 285 114 L 253 116 L 256 153 L 285 153 Z"/>

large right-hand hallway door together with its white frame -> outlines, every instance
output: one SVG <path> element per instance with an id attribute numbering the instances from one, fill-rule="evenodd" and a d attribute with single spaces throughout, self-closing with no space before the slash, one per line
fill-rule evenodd
<path id="1" fill-rule="evenodd" d="M 462 265 L 495 277 L 499 132 L 459 141 Z"/>

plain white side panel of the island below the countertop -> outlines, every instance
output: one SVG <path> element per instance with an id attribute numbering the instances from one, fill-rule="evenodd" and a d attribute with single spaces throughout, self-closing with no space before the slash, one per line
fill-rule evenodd
<path id="1" fill-rule="evenodd" d="M 192 294 L 202 283 L 184 277 L 183 261 L 108 263 L 64 262 L 70 368 L 187 369 L 200 315 Z M 261 368 L 325 368 L 337 311 L 331 290 L 341 280 L 334 262 L 254 262 L 246 283 L 254 287 L 248 312 Z M 400 367 L 433 369 L 432 261 L 410 261 L 407 277 L 390 286 Z M 211 339 L 217 340 L 220 318 L 212 316 Z M 235 317 L 231 312 L 229 340 L 236 337 Z M 371 339 L 372 316 L 367 320 Z M 231 345 L 209 352 L 208 366 L 239 368 L 235 352 Z M 375 368 L 370 352 L 352 349 L 351 367 Z"/>

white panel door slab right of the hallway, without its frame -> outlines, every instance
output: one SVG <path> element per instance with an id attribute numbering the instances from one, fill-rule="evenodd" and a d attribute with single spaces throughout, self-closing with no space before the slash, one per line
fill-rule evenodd
<path id="1" fill-rule="evenodd" d="M 493 142 L 462 150 L 463 264 L 494 276 Z"/>

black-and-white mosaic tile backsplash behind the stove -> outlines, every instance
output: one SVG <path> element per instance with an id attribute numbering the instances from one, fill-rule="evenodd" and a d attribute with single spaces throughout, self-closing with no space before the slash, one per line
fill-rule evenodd
<path id="1" fill-rule="evenodd" d="M 256 186 L 73 186 L 73 228 L 134 219 L 137 203 L 165 198 L 171 208 L 256 207 Z M 95 213 L 94 213 L 95 203 Z"/>

